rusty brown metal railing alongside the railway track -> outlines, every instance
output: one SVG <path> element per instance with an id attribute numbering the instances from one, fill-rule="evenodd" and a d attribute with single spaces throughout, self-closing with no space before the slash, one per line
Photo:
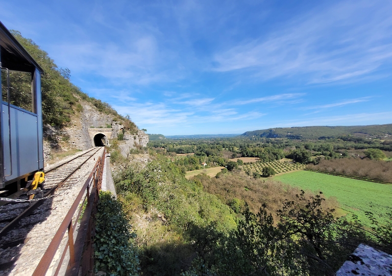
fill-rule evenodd
<path id="1" fill-rule="evenodd" d="M 54 275 L 56 276 L 60 272 L 68 248 L 69 262 L 65 275 L 93 275 L 93 237 L 95 235 L 95 214 L 96 206 L 99 201 L 99 191 L 101 190 L 102 185 L 105 156 L 106 148 L 104 148 L 102 157 L 99 157 L 96 161 L 94 169 L 91 171 L 77 198 L 69 209 L 52 242 L 47 247 L 45 254 L 42 256 L 41 261 L 34 270 L 33 276 L 43 276 L 46 274 L 56 255 L 60 243 L 63 240 L 65 232 L 68 232 L 68 241 L 61 254 L 61 258 Z M 81 201 L 83 201 L 82 205 L 79 208 L 75 222 L 72 224 L 72 218 L 78 211 L 78 206 Z M 74 242 L 74 231 L 81 215 L 82 219 Z"/>

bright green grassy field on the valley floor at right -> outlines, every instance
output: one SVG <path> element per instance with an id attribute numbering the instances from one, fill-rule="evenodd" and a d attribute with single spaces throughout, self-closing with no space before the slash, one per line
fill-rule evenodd
<path id="1" fill-rule="evenodd" d="M 371 211 L 375 215 L 385 215 L 392 211 L 392 185 L 390 184 L 309 171 L 277 175 L 274 179 L 303 190 L 322 191 L 326 197 L 336 197 L 342 210 L 357 215 L 359 220 L 367 226 L 371 223 L 366 218 L 365 211 Z"/>

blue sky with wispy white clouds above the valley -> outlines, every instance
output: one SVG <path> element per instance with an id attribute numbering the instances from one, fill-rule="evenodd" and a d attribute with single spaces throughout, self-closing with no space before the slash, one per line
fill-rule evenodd
<path id="1" fill-rule="evenodd" d="M 392 123 L 391 1 L 3 1 L 148 133 Z"/>

